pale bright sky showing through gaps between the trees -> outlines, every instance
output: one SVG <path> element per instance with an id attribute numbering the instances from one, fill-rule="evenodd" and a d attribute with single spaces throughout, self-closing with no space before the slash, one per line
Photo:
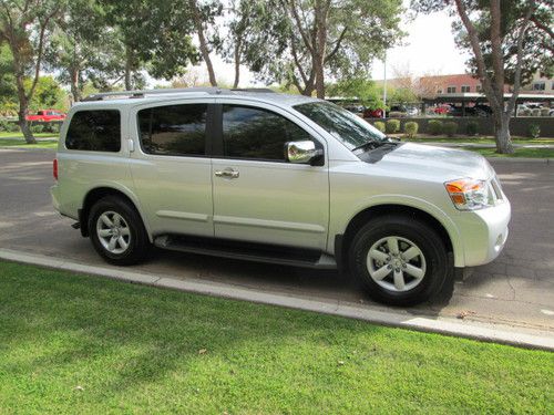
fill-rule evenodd
<path id="1" fill-rule="evenodd" d="M 409 0 L 404 0 L 407 9 L 409 2 Z M 387 77 L 392 79 L 396 77 L 396 74 L 406 74 L 407 72 L 414 76 L 464 73 L 469 55 L 455 48 L 451 29 L 452 19 L 445 12 L 417 17 L 408 14 L 402 22 L 402 29 L 408 33 L 402 45 L 387 52 Z M 219 56 L 212 55 L 211 58 L 219 82 L 232 84 L 233 65 L 223 62 Z M 194 71 L 201 80 L 205 77 L 207 82 L 207 72 L 204 65 L 194 69 Z M 371 76 L 373 80 L 384 77 L 384 63 L 381 60 L 372 62 Z M 249 85 L 263 86 L 256 82 L 254 74 L 246 66 L 242 66 L 239 86 Z"/>

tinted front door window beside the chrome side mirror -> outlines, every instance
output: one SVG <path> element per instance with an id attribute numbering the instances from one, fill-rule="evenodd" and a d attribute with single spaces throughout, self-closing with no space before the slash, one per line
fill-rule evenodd
<path id="1" fill-rule="evenodd" d="M 223 106 L 224 155 L 234 158 L 285 160 L 285 143 L 311 139 L 295 123 L 269 111 Z"/>

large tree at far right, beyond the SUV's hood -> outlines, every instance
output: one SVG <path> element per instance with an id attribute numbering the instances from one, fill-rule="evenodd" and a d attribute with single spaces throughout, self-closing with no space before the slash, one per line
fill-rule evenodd
<path id="1" fill-rule="evenodd" d="M 525 63 L 529 51 L 536 48 L 533 37 L 530 38 L 530 30 L 535 28 L 550 35 L 552 50 L 552 31 L 548 34 L 548 30 L 540 29 L 545 19 L 552 21 L 552 9 L 547 3 L 551 1 L 412 0 L 412 7 L 418 11 L 447 9 L 458 17 L 454 30 L 459 32 L 459 43 L 466 44 L 473 54 L 470 65 L 474 66 L 493 111 L 499 153 L 513 153 L 510 118 L 520 93 L 522 73 L 533 71 L 533 64 L 536 64 L 532 60 Z M 513 82 L 507 103 L 504 102 L 506 80 Z"/>

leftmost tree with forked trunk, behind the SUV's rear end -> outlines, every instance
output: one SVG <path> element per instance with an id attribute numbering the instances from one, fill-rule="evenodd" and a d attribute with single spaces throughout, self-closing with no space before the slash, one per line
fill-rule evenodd
<path id="1" fill-rule="evenodd" d="M 28 144 L 35 143 L 25 118 L 29 103 L 39 82 L 53 20 L 64 7 L 64 2 L 59 0 L 0 0 L 0 41 L 9 45 L 12 54 L 19 101 L 18 121 Z M 25 89 L 28 75 L 31 84 Z"/>

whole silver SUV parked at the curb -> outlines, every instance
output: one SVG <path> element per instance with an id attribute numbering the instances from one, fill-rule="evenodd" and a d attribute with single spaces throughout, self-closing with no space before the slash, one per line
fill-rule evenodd
<path id="1" fill-rule="evenodd" d="M 339 106 L 268 90 L 92 95 L 61 129 L 55 208 L 107 262 L 148 248 L 356 276 L 425 301 L 492 261 L 510 204 L 478 154 L 400 143 Z"/>

